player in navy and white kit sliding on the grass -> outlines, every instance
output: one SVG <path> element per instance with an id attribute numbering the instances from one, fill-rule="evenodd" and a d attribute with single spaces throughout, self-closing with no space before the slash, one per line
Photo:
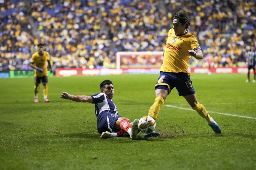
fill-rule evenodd
<path id="1" fill-rule="evenodd" d="M 101 93 L 97 93 L 95 95 L 70 95 L 67 92 L 63 92 L 60 98 L 95 104 L 97 130 L 101 134 L 101 138 L 129 135 L 132 139 L 136 139 L 136 135 L 139 132 L 139 119 L 135 119 L 130 123 L 128 118 L 118 114 L 117 107 L 112 100 L 114 95 L 114 86 L 110 80 L 104 80 L 100 83 L 99 87 Z M 150 136 L 159 135 L 157 132 L 153 133 L 154 134 Z"/>

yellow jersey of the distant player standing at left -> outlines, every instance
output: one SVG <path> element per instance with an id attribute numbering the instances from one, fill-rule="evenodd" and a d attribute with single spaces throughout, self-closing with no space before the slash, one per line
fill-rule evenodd
<path id="1" fill-rule="evenodd" d="M 42 76 L 48 76 L 48 70 L 47 70 L 47 61 L 50 60 L 50 55 L 48 52 L 44 51 L 43 55 L 39 55 L 38 52 L 35 52 L 32 55 L 31 63 L 34 63 L 37 67 L 41 68 L 43 70 L 42 73 L 40 73 L 38 70 L 35 70 L 35 76 L 36 77 L 42 77 Z"/>

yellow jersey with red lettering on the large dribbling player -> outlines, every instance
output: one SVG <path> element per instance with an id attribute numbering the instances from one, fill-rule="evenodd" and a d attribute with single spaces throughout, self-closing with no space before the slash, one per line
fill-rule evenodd
<path id="1" fill-rule="evenodd" d="M 190 55 L 188 50 L 200 49 L 197 38 L 187 32 L 184 35 L 175 35 L 174 29 L 171 28 L 166 41 L 166 49 L 164 52 L 164 61 L 160 68 L 163 72 L 184 72 L 189 76 L 188 61 Z"/>

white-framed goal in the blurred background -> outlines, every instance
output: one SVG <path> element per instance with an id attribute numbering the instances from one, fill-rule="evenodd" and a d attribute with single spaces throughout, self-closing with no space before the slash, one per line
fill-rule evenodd
<path id="1" fill-rule="evenodd" d="M 163 63 L 163 54 L 163 51 L 119 51 L 116 53 L 116 69 L 160 68 Z"/>

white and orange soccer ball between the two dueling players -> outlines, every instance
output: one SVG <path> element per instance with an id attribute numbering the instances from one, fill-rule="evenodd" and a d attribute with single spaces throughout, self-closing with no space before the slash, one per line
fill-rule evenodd
<path id="1" fill-rule="evenodd" d="M 151 133 L 156 128 L 156 121 L 150 116 L 143 116 L 139 120 L 139 129 L 142 133 Z"/>

